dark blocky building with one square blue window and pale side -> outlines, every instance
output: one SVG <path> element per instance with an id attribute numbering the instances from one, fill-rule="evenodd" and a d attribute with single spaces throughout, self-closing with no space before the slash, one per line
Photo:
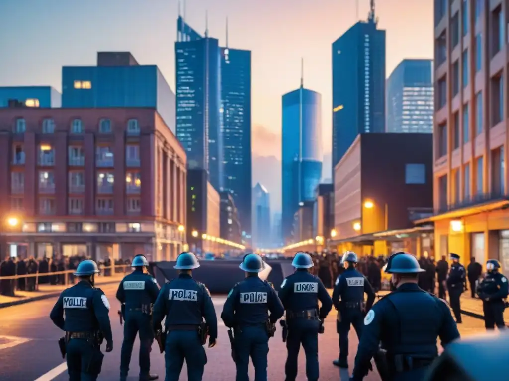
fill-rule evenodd
<path id="1" fill-rule="evenodd" d="M 432 146 L 430 134 L 359 135 L 334 168 L 335 240 L 413 227 L 410 209 L 433 204 Z"/>

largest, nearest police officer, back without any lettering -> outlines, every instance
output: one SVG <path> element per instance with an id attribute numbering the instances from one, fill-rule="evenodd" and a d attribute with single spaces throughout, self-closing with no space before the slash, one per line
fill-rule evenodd
<path id="1" fill-rule="evenodd" d="M 362 380 L 367 374 L 380 342 L 387 351 L 387 379 L 420 380 L 438 356 L 437 337 L 443 346 L 460 337 L 447 304 L 419 289 L 418 274 L 424 271 L 409 253 L 400 251 L 389 258 L 385 272 L 392 274 L 396 289 L 364 318 L 351 380 Z"/>

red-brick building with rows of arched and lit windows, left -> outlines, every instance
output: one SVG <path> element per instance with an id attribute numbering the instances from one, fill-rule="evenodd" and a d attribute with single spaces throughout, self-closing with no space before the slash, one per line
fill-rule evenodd
<path id="1" fill-rule="evenodd" d="M 6 249 L 158 261 L 186 246 L 186 156 L 154 109 L 4 108 L 0 126 Z"/>

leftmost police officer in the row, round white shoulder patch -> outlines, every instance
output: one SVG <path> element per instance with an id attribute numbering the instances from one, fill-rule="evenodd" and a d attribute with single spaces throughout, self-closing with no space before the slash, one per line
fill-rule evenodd
<path id="1" fill-rule="evenodd" d="M 102 290 L 94 288 L 96 274 L 99 269 L 94 261 L 81 262 L 74 272 L 78 283 L 60 294 L 49 314 L 55 326 L 66 331 L 70 381 L 97 379 L 104 358 L 100 347 L 103 338 L 106 339 L 106 352 L 113 350 L 108 316 L 110 305 Z"/>

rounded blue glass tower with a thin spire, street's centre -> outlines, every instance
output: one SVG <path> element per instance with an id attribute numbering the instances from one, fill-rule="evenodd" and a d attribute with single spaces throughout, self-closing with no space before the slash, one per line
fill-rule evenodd
<path id="1" fill-rule="evenodd" d="M 322 96 L 301 86 L 282 96 L 282 235 L 292 236 L 299 203 L 313 201 L 322 177 Z"/>

